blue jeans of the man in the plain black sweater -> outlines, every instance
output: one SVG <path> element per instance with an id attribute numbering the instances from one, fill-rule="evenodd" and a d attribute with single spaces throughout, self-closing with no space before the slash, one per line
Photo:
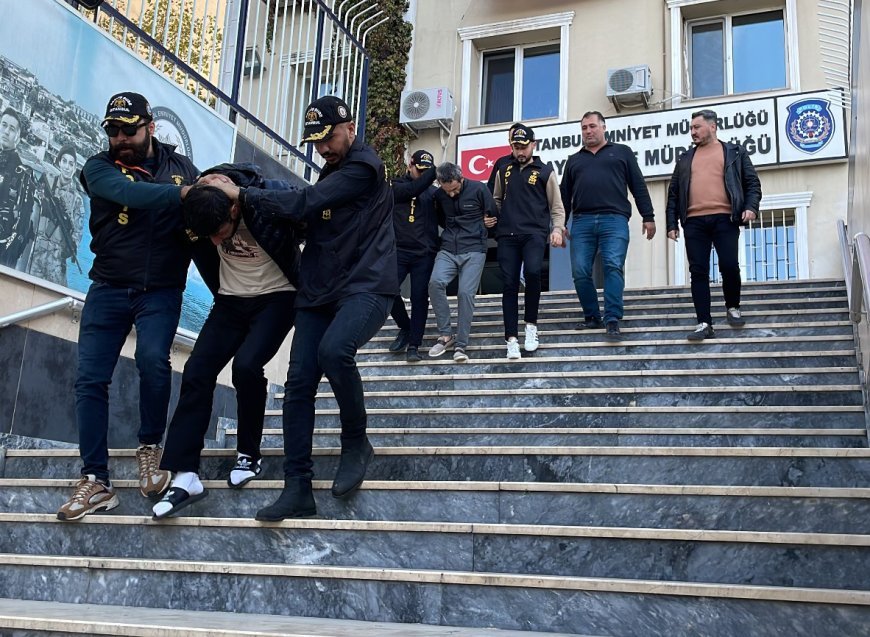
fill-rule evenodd
<path id="1" fill-rule="evenodd" d="M 620 214 L 574 215 L 571 222 L 571 274 L 583 315 L 601 318 L 598 291 L 592 281 L 595 254 L 601 253 L 604 269 L 604 322 L 622 318 L 625 289 L 625 255 L 628 253 L 628 219 Z"/>

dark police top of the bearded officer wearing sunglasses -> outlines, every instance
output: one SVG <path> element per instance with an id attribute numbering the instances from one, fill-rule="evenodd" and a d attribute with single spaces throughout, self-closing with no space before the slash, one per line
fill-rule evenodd
<path id="1" fill-rule="evenodd" d="M 152 141 L 153 174 L 116 162 L 107 151 L 82 168 L 80 180 L 91 198 L 93 281 L 137 290 L 185 286 L 192 249 L 179 186 L 195 182 L 198 171 L 175 146 Z"/>

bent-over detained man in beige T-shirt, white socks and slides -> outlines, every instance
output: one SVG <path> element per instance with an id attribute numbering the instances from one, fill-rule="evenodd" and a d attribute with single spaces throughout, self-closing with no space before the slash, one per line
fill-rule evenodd
<path id="1" fill-rule="evenodd" d="M 217 378 L 230 359 L 238 441 L 227 484 L 239 489 L 260 474 L 267 397 L 264 367 L 293 327 L 300 258 L 297 225 L 242 211 L 238 202 L 209 185 L 216 183 L 293 189 L 286 182 L 264 179 L 253 164 L 222 164 L 205 171 L 185 197 L 187 229 L 199 243 L 209 244 L 208 267 L 201 263 L 203 258 L 197 267 L 215 298 L 181 377 L 160 463 L 174 477 L 154 505 L 155 519 L 173 515 L 207 494 L 199 479 L 200 454 Z"/>

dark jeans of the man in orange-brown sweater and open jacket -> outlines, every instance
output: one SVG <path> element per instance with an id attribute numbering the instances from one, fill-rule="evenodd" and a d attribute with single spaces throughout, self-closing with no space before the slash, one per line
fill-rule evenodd
<path id="1" fill-rule="evenodd" d="M 722 293 L 725 307 L 740 307 L 740 263 L 737 246 L 740 226 L 731 222 L 730 215 L 689 217 L 683 225 L 686 238 L 686 256 L 692 275 L 692 301 L 699 323 L 713 324 L 710 315 L 710 250 L 715 246 L 722 274 Z"/>

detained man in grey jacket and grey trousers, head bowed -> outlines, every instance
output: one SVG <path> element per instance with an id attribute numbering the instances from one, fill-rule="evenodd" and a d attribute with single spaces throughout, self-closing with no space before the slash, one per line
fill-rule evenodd
<path id="1" fill-rule="evenodd" d="M 498 222 L 498 209 L 486 185 L 463 177 L 462 169 L 456 164 L 441 164 L 437 174 L 441 188 L 435 193 L 435 205 L 443 218 L 444 232 L 429 279 L 429 298 L 439 334 L 429 349 L 429 356 L 441 356 L 453 347 L 453 360 L 465 363 L 474 318 L 474 296 L 486 263 L 487 228 Z M 447 286 L 457 277 L 457 332 L 454 335 Z"/>

